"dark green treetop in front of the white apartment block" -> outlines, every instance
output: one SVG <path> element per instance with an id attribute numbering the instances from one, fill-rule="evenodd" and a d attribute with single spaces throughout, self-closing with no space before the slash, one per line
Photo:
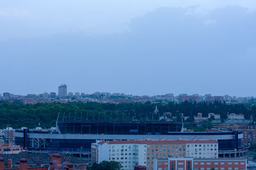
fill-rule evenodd
<path id="1" fill-rule="evenodd" d="M 116 161 L 102 161 L 100 164 L 94 163 L 88 170 L 120 170 L 122 165 Z"/>

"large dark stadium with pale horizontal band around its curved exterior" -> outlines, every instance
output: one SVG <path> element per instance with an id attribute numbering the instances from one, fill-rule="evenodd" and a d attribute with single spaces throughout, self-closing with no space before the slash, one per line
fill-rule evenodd
<path id="1" fill-rule="evenodd" d="M 218 139 L 222 157 L 245 155 L 243 132 L 181 132 L 182 123 L 161 121 L 59 120 L 57 131 L 14 132 L 15 142 L 28 150 L 88 152 L 96 140 Z M 221 155 L 219 154 L 219 157 Z"/>

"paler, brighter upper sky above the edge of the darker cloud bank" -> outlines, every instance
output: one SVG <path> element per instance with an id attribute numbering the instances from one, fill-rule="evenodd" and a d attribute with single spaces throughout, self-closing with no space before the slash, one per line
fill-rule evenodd
<path id="1" fill-rule="evenodd" d="M 3 39 L 38 38 L 68 32 L 82 32 L 84 35 L 115 34 L 131 31 L 130 23 L 134 18 L 159 8 L 183 8 L 189 9 L 189 13 L 192 14 L 207 15 L 213 10 L 227 6 L 255 11 L 256 1 L 0 1 L 0 24 L 5 27 L 0 29 L 0 36 L 3 41 Z M 17 29 L 12 29 L 13 27 Z"/>

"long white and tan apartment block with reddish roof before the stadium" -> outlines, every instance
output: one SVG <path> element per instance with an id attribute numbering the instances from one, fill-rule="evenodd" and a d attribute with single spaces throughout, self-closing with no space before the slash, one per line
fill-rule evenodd
<path id="1" fill-rule="evenodd" d="M 100 141 L 92 144 L 92 161 L 115 160 L 125 169 L 153 169 L 154 159 L 168 157 L 218 158 L 217 140 Z"/>

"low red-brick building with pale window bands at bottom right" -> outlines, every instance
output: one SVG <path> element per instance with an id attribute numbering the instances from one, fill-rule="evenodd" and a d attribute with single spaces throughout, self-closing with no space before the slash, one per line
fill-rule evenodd
<path id="1" fill-rule="evenodd" d="M 246 159 L 154 159 L 154 170 L 246 170 Z"/>

